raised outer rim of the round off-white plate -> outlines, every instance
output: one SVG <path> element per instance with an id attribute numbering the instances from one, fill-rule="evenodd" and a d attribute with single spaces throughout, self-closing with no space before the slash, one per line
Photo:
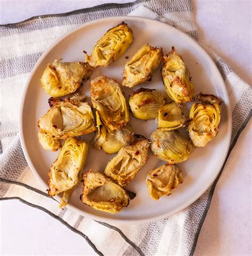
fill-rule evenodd
<path id="1" fill-rule="evenodd" d="M 132 19 L 135 21 L 138 20 L 145 20 L 147 22 L 152 21 L 154 23 L 162 23 L 163 25 L 169 27 L 169 29 L 172 30 L 176 30 L 177 33 L 179 33 L 180 35 L 184 36 L 187 38 L 187 40 L 189 40 L 192 44 L 194 44 L 194 46 L 201 52 L 203 53 L 203 55 L 207 58 L 209 64 L 212 66 L 213 70 L 215 71 L 215 74 L 218 76 L 218 78 L 221 81 L 221 87 L 224 91 L 225 94 L 225 107 L 226 107 L 226 122 L 228 124 L 228 141 L 229 141 L 229 147 L 230 147 L 230 142 L 231 142 L 231 132 L 232 132 L 232 115 L 231 115 L 231 105 L 230 105 L 230 99 L 229 99 L 229 95 L 228 95 L 228 91 L 226 90 L 226 85 L 224 82 L 224 79 L 220 73 L 220 70 L 217 68 L 215 62 L 213 61 L 213 59 L 210 57 L 210 55 L 203 49 L 203 47 L 199 44 L 199 42 L 197 42 L 194 38 L 192 38 L 191 36 L 189 36 L 188 34 L 184 33 L 183 31 L 179 30 L 178 28 L 175 28 L 165 22 L 159 21 L 159 20 L 153 20 L 150 18 L 145 18 L 145 17 L 137 17 L 137 16 L 115 16 L 115 17 L 106 17 L 106 18 L 102 18 L 102 19 L 96 19 L 96 20 L 92 20 L 92 21 L 88 21 L 83 23 L 80 26 L 77 26 L 73 29 L 71 29 L 70 31 L 66 32 L 65 34 L 63 34 L 62 36 L 58 37 L 51 45 L 49 45 L 49 47 L 45 50 L 45 52 L 39 57 L 39 59 L 37 60 L 35 66 L 33 66 L 28 79 L 26 81 L 26 84 L 23 87 L 23 91 L 22 91 L 22 96 L 21 96 L 21 103 L 20 103 L 20 114 L 19 114 L 19 133 L 20 133 L 20 142 L 21 142 L 21 147 L 24 153 L 24 157 L 26 158 L 26 161 L 33 173 L 33 175 L 35 175 L 36 179 L 39 181 L 39 183 L 41 184 L 41 186 L 43 186 L 44 188 L 48 188 L 47 183 L 44 182 L 44 180 L 40 177 L 39 173 L 37 172 L 35 166 L 32 163 L 32 160 L 29 156 L 27 147 L 26 147 L 26 142 L 24 140 L 24 129 L 23 129 L 23 116 L 24 116 L 24 103 L 26 101 L 26 94 L 27 91 L 29 89 L 29 85 L 31 82 L 31 79 L 35 73 L 35 71 L 37 70 L 37 68 L 40 66 L 41 62 L 45 59 L 46 55 L 48 54 L 49 51 L 51 51 L 58 43 L 60 43 L 64 38 L 68 37 L 69 35 L 75 33 L 76 31 L 83 29 L 87 26 L 93 25 L 96 22 L 100 22 L 103 20 L 114 20 L 117 21 L 119 19 Z M 125 220 L 125 219 L 112 219 L 112 218 L 106 218 L 106 217 L 100 217 L 97 216 L 95 214 L 91 214 L 88 213 L 84 210 L 80 210 L 78 207 L 73 206 L 71 203 L 69 203 L 66 207 L 73 210 L 74 212 L 77 212 L 78 214 L 84 215 L 85 217 L 88 217 L 90 219 L 93 220 L 98 220 L 98 221 L 105 221 L 108 223 L 117 223 L 117 224 L 140 224 L 140 223 L 148 223 L 148 222 L 152 222 L 152 221 L 157 221 L 157 220 L 161 220 L 164 218 L 167 218 L 171 215 L 173 215 L 174 213 L 180 212 L 184 209 L 186 209 L 186 207 L 190 206 L 192 203 L 194 203 L 195 201 L 197 201 L 197 199 L 203 195 L 205 193 L 205 191 L 212 185 L 212 183 L 214 182 L 214 180 L 217 178 L 217 176 L 219 175 L 223 164 L 225 163 L 225 159 L 226 159 L 226 155 L 228 154 L 229 151 L 229 147 L 226 147 L 225 152 L 223 154 L 223 160 L 220 164 L 220 169 L 219 171 L 217 171 L 215 173 L 215 175 L 213 175 L 212 179 L 209 180 L 209 182 L 207 183 L 207 186 L 204 186 L 203 189 L 201 189 L 192 199 L 190 199 L 189 201 L 183 203 L 182 205 L 180 205 L 179 207 L 177 207 L 176 209 L 174 209 L 173 211 L 170 211 L 169 213 L 165 213 L 162 215 L 159 215 L 158 217 L 152 217 L 152 218 L 144 218 L 144 219 L 137 219 L 137 220 Z M 54 198 L 57 199 L 57 201 L 61 200 L 60 196 L 54 196 Z"/>

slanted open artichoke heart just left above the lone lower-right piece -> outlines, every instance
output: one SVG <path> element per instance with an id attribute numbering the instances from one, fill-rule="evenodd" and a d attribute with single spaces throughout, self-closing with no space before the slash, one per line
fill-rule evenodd
<path id="1" fill-rule="evenodd" d="M 104 173 L 121 186 L 126 186 L 146 164 L 148 149 L 149 141 L 147 139 L 121 148 L 117 155 L 108 162 Z"/>

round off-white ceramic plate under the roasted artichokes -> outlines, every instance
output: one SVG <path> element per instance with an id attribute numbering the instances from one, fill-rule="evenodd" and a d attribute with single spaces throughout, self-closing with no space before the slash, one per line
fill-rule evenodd
<path id="1" fill-rule="evenodd" d="M 39 145 L 37 139 L 37 121 L 49 109 L 47 103 L 49 95 L 45 93 L 39 81 L 41 74 L 46 68 L 47 63 L 52 62 L 54 59 L 63 58 L 64 61 L 83 61 L 84 55 L 82 51 L 86 50 L 90 53 L 96 41 L 102 37 L 108 29 L 118 25 L 122 21 L 128 23 L 129 27 L 133 30 L 133 43 L 119 60 L 116 60 L 110 67 L 96 68 L 91 77 L 105 75 L 121 82 L 123 67 L 127 61 L 124 57 L 128 56 L 131 58 L 139 47 L 146 43 L 163 47 L 164 54 L 169 52 L 174 45 L 190 70 L 192 83 L 195 85 L 195 92 L 199 93 L 202 91 L 203 93 L 212 93 L 223 100 L 221 106 L 222 122 L 219 134 L 208 143 L 207 147 L 197 148 L 186 162 L 178 164 L 182 170 L 184 182 L 174 190 L 171 196 L 162 197 L 159 201 L 153 201 L 153 199 L 149 197 L 145 185 L 145 175 L 149 170 L 164 164 L 164 162 L 159 161 L 149 152 L 147 164 L 127 186 L 127 189 L 134 191 L 137 196 L 130 202 L 130 205 L 119 214 L 96 211 L 82 204 L 79 199 L 81 186 L 74 192 L 68 203 L 70 209 L 92 219 L 107 222 L 139 223 L 167 217 L 196 201 L 196 199 L 211 186 L 228 152 L 231 138 L 231 115 L 228 94 L 221 74 L 213 60 L 194 39 L 165 23 L 139 17 L 100 19 L 85 23 L 85 25 L 70 31 L 70 33 L 64 35 L 49 47 L 40 57 L 31 72 L 23 93 L 20 134 L 27 162 L 32 172 L 46 189 L 48 179 L 47 172 L 51 163 L 56 159 L 58 152 L 53 153 L 44 150 Z M 123 91 L 128 98 L 131 91 L 137 90 L 140 87 L 156 89 L 165 95 L 160 68 L 155 71 L 152 82 L 140 84 L 133 89 L 123 87 Z M 85 88 L 85 93 L 89 95 L 89 81 L 85 82 Z M 88 99 L 88 101 L 90 102 L 90 99 Z M 191 103 L 187 104 L 187 109 L 184 111 L 186 114 L 188 114 L 190 106 Z M 131 118 L 130 124 L 133 126 L 136 133 L 145 135 L 147 138 L 150 137 L 150 133 L 157 127 L 154 121 L 140 121 L 133 117 Z M 180 132 L 187 136 L 186 129 L 180 129 Z M 83 138 L 89 141 L 92 137 L 93 133 Z M 107 162 L 113 156 L 114 155 L 106 155 L 103 151 L 95 150 L 90 147 L 87 163 L 83 171 L 92 168 L 102 172 Z"/>

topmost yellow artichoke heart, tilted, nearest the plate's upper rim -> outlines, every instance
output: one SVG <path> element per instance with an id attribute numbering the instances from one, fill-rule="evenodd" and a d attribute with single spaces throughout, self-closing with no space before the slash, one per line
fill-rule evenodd
<path id="1" fill-rule="evenodd" d="M 99 39 L 89 56 L 85 51 L 86 62 L 92 67 L 107 67 L 118 59 L 133 42 L 132 30 L 124 22 L 110 29 Z"/>

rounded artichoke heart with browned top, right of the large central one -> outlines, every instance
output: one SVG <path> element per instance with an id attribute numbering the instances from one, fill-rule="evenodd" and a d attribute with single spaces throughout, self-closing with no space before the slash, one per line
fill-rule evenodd
<path id="1" fill-rule="evenodd" d="M 129 105 L 132 115 L 138 119 L 155 119 L 158 108 L 164 105 L 166 98 L 156 90 L 140 88 L 132 92 L 129 98 Z"/>

